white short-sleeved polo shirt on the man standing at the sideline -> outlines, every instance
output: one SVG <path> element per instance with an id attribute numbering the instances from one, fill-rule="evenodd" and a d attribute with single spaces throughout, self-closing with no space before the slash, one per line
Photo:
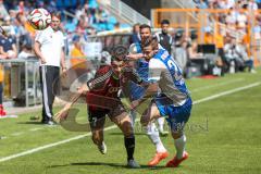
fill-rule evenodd
<path id="1" fill-rule="evenodd" d="M 62 32 L 54 32 L 49 26 L 44 30 L 37 32 L 35 41 L 41 45 L 40 51 L 46 59 L 46 64 L 40 63 L 40 65 L 60 67 L 62 47 L 64 47 L 64 36 Z"/>

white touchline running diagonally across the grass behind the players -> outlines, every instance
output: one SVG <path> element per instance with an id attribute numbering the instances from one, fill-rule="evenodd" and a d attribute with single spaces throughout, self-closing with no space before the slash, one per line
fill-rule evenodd
<path id="1" fill-rule="evenodd" d="M 249 89 L 249 88 L 252 88 L 252 87 L 256 87 L 256 86 L 259 86 L 259 85 L 261 85 L 261 83 L 254 83 L 254 84 L 250 84 L 250 85 L 247 85 L 247 86 L 244 86 L 244 87 L 239 87 L 239 88 L 227 90 L 227 91 L 224 91 L 224 92 L 221 92 L 221 94 L 216 94 L 216 95 L 213 95 L 213 96 L 194 101 L 194 104 L 210 101 L 210 100 L 213 100 L 213 99 L 216 99 L 216 98 L 220 98 L 220 97 L 223 97 L 223 96 L 227 96 L 227 95 L 240 91 L 240 90 Z M 116 128 L 116 125 L 107 127 L 107 128 L 104 128 L 104 130 L 109 130 L 109 129 L 113 129 L 113 128 Z M 89 132 L 87 134 L 78 135 L 78 136 L 73 137 L 73 138 L 69 138 L 69 139 L 64 139 L 64 140 L 61 140 L 61 141 L 58 141 L 58 142 L 45 145 L 45 146 L 34 148 L 34 149 L 30 149 L 30 150 L 27 150 L 27 151 L 23 151 L 23 152 L 16 153 L 16 154 L 12 154 L 12 156 L 9 156 L 9 157 L 3 157 L 3 158 L 0 159 L 0 162 L 4 162 L 4 161 L 9 161 L 9 160 L 18 158 L 18 157 L 30 154 L 30 153 L 34 153 L 34 152 L 37 152 L 37 151 L 40 151 L 40 150 L 44 150 L 44 149 L 48 149 L 48 148 L 51 148 L 51 147 L 54 147 L 54 146 L 59 146 L 59 145 L 66 144 L 66 142 L 73 141 L 73 140 L 77 140 L 77 139 L 80 139 L 80 138 L 84 138 L 84 137 L 87 137 L 87 136 L 90 136 L 90 135 L 91 135 L 91 133 Z"/>

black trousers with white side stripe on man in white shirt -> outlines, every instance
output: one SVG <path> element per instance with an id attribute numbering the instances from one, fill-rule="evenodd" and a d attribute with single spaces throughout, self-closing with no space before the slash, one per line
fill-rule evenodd
<path id="1" fill-rule="evenodd" d="M 42 120 L 48 122 L 52 119 L 52 104 L 59 89 L 60 67 L 45 65 L 40 66 L 40 84 L 42 94 Z"/>

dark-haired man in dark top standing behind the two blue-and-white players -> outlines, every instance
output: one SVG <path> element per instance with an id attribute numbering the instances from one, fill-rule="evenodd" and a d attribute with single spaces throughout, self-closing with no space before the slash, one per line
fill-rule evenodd
<path id="1" fill-rule="evenodd" d="M 157 33 L 156 37 L 159 44 L 170 53 L 172 54 L 172 45 L 173 39 L 172 36 L 169 34 L 167 29 L 170 28 L 170 21 L 162 20 L 161 21 L 161 33 Z"/>

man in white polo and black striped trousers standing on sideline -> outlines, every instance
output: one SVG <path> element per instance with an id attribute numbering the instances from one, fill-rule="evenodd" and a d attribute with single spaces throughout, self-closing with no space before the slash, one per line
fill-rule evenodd
<path id="1" fill-rule="evenodd" d="M 52 125 L 52 104 L 58 89 L 54 83 L 62 72 L 66 71 L 64 58 L 64 37 L 60 29 L 61 14 L 51 15 L 51 25 L 44 30 L 39 30 L 35 38 L 35 52 L 40 60 L 40 79 L 42 92 L 42 120 L 44 124 Z"/>

